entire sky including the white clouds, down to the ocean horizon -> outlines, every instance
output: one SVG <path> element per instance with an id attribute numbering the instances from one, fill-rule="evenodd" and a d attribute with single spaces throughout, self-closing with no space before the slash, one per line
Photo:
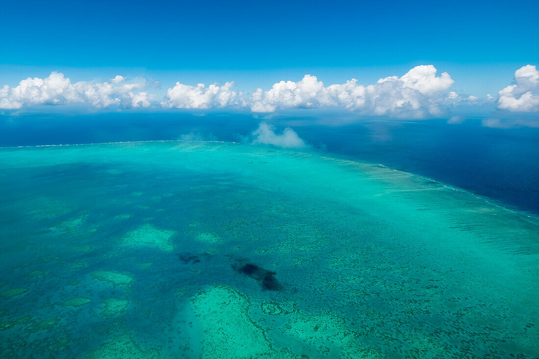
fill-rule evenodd
<path id="1" fill-rule="evenodd" d="M 535 125 L 537 13 L 537 1 L 4 2 L 0 111 L 335 107 Z"/>

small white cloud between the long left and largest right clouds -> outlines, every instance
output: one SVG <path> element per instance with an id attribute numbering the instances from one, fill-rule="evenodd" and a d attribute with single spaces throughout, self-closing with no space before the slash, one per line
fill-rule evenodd
<path id="1" fill-rule="evenodd" d="M 197 86 L 184 85 L 176 82 L 176 86 L 167 90 L 163 107 L 210 109 L 239 105 L 241 93 L 231 90 L 234 82 L 226 82 L 223 86 L 204 84 Z"/>

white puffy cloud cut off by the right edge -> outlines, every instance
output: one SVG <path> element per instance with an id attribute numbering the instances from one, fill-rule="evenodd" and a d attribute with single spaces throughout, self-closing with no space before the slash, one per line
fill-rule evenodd
<path id="1" fill-rule="evenodd" d="M 539 111 L 539 71 L 526 65 L 515 71 L 515 84 L 498 92 L 498 108 L 513 112 Z"/>

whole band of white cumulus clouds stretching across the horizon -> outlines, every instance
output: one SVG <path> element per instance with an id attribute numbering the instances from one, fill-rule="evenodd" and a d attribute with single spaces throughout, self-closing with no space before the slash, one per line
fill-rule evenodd
<path id="1" fill-rule="evenodd" d="M 299 81 L 283 80 L 251 94 L 234 89 L 232 81 L 209 86 L 176 82 L 159 101 L 150 93 L 155 86 L 145 79 L 129 81 L 116 75 L 102 82 L 71 82 L 63 73 L 52 72 L 44 79 L 22 80 L 15 87 L 4 85 L 0 88 L 0 109 L 79 104 L 89 108 L 236 109 L 269 114 L 289 109 L 340 108 L 388 118 L 447 116 L 450 123 L 462 122 L 453 113 L 457 108 L 490 106 L 494 110 L 496 104 L 499 112 L 539 112 L 539 71 L 532 65 L 519 68 L 514 84 L 499 91 L 498 98 L 458 94 L 452 91 L 453 84 L 447 72 L 438 74 L 433 65 L 420 65 L 400 77 L 381 78 L 376 84 L 363 85 L 350 79 L 326 86 L 314 75 L 305 75 Z"/>

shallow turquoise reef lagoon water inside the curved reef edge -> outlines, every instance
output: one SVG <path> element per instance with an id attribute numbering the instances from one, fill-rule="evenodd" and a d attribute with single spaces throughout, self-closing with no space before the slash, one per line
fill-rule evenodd
<path id="1" fill-rule="evenodd" d="M 217 142 L 0 149 L 2 357 L 539 356 L 539 219 Z"/>

